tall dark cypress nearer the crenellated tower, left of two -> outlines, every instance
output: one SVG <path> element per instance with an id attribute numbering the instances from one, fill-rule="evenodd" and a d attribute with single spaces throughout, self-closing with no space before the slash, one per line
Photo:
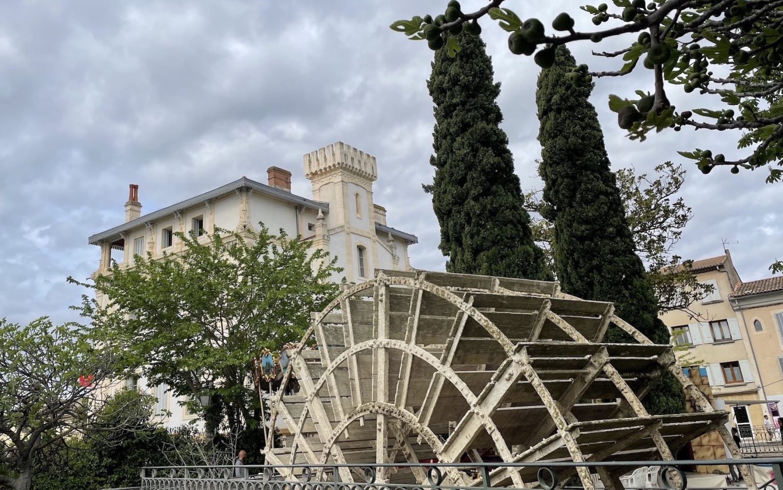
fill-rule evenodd
<path id="1" fill-rule="evenodd" d="M 435 52 L 427 83 L 435 103 L 435 180 L 424 189 L 432 194 L 446 270 L 551 279 L 499 126 L 492 60 L 481 38 L 462 34 L 460 45 L 454 58 L 446 48 Z"/>

